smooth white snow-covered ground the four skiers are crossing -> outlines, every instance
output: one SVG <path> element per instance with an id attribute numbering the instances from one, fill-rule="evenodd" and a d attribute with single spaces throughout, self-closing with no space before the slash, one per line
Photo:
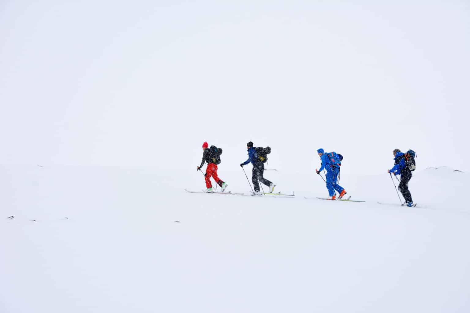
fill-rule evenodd
<path id="1" fill-rule="evenodd" d="M 417 171 L 416 208 L 386 173 L 341 178 L 366 203 L 265 176 L 296 198 L 190 194 L 195 168 L 1 167 L 0 312 L 470 312 L 468 174 Z"/>

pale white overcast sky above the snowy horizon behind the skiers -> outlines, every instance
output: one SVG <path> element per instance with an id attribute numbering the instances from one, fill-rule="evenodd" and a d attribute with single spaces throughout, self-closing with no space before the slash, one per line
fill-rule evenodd
<path id="1" fill-rule="evenodd" d="M 469 3 L 341 2 L 3 0 L 0 163 L 468 171 Z"/>

